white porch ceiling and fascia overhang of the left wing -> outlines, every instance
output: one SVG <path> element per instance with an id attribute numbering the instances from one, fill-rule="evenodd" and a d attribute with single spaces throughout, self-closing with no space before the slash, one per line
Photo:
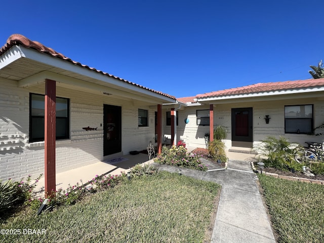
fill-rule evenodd
<path id="1" fill-rule="evenodd" d="M 59 86 L 98 95 L 108 94 L 109 97 L 133 99 L 150 105 L 176 101 L 175 97 L 168 94 L 128 82 L 61 56 L 58 58 L 53 53 L 49 55 L 23 45 L 6 47 L 0 52 L 0 77 L 16 81 L 18 87 L 28 88 L 44 83 L 45 78 L 49 78 L 56 80 Z"/>

